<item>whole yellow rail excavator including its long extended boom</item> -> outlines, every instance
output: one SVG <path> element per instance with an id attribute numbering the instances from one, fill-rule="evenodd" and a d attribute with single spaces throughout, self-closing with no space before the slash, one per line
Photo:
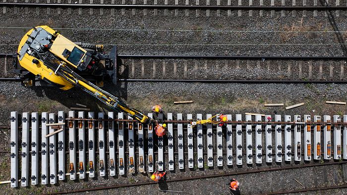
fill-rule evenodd
<path id="1" fill-rule="evenodd" d="M 105 54 L 102 45 L 74 43 L 48 26 L 38 26 L 24 35 L 17 55 L 19 65 L 25 70 L 16 73 L 25 86 L 33 86 L 40 80 L 62 90 L 80 87 L 141 123 L 151 121 L 147 115 L 100 88 L 105 79 L 116 83 L 116 46 L 110 54 Z"/>

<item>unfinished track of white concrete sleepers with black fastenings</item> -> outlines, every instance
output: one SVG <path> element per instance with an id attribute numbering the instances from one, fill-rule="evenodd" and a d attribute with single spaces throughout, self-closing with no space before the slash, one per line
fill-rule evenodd
<path id="1" fill-rule="evenodd" d="M 41 116 L 37 112 L 25 112 L 21 116 L 11 112 L 11 187 L 18 187 L 19 178 L 20 186 L 25 187 L 30 185 L 29 181 L 31 185 L 56 184 L 66 176 L 76 180 L 96 175 L 151 173 L 155 169 L 174 172 L 212 167 L 239 171 L 243 165 L 309 163 L 305 167 L 314 162 L 324 165 L 345 163 L 331 162 L 333 159 L 347 160 L 347 145 L 342 145 L 342 140 L 345 143 L 347 139 L 347 115 L 343 120 L 339 115 L 334 115 L 333 120 L 329 115 L 314 116 L 312 121 L 310 115 L 304 115 L 302 121 L 300 115 L 295 115 L 294 121 L 285 115 L 282 122 L 281 115 L 275 115 L 275 121 L 271 115 L 266 115 L 264 121 L 260 115 L 256 115 L 255 120 L 245 115 L 244 120 L 242 115 L 236 114 L 235 120 L 227 115 L 229 121 L 223 127 L 209 124 L 206 128 L 199 125 L 192 128 L 189 125 L 191 114 L 185 120 L 182 114 L 177 114 L 176 118 L 168 113 L 166 120 L 159 114 L 157 121 L 168 123 L 168 136 L 158 138 L 154 136 L 153 124 L 142 125 L 130 117 L 125 118 L 123 113 L 118 113 L 118 117 L 114 112 L 98 113 L 95 117 L 94 112 L 88 112 L 87 118 L 85 112 L 78 112 L 77 118 L 75 114 L 69 111 L 66 118 L 63 111 L 58 112 L 58 117 L 47 112 Z M 151 113 L 149 116 L 153 117 Z M 196 118 L 203 119 L 201 114 Z M 22 128 L 18 128 L 19 121 L 22 121 Z M 67 126 L 54 127 L 58 125 L 53 124 L 56 122 Z M 46 137 L 56 131 L 53 127 L 62 131 Z M 302 144 L 301 140 L 305 142 Z M 67 154 L 68 162 L 65 160 Z M 38 174 L 39 164 L 41 175 Z"/>

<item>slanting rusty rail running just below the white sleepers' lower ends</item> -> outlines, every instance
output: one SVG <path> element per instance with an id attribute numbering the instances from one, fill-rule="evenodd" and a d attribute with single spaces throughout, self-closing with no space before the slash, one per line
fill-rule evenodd
<path id="1" fill-rule="evenodd" d="M 308 168 L 308 167 L 316 167 L 316 166 L 340 165 L 340 164 L 346 164 L 346 163 L 347 163 L 347 161 L 342 161 L 342 162 L 327 162 L 327 163 L 323 163 L 323 164 L 312 163 L 312 164 L 305 164 L 305 165 L 292 165 L 292 166 L 286 166 L 286 167 L 264 168 L 264 169 L 246 170 L 246 171 L 237 171 L 236 170 L 236 171 L 229 172 L 229 173 L 220 173 L 220 174 L 204 175 L 204 176 L 193 176 L 193 177 L 186 177 L 186 178 L 179 178 L 179 179 L 172 179 L 172 180 L 168 179 L 168 180 L 166 180 L 166 183 L 182 182 L 182 181 L 190 181 L 190 180 L 198 180 L 198 179 L 208 179 L 208 178 L 217 178 L 217 177 L 227 177 L 227 176 L 234 176 L 234 175 L 254 174 L 254 173 L 267 172 L 267 171 L 282 171 L 282 170 Z M 120 185 L 114 185 L 114 186 L 102 186 L 102 187 L 79 189 L 79 190 L 73 190 L 73 191 L 54 192 L 54 193 L 43 194 L 43 195 L 58 195 L 58 194 L 80 193 L 80 192 L 87 192 L 87 191 L 109 190 L 109 189 L 124 188 L 124 187 L 154 185 L 157 183 L 158 182 L 120 184 Z"/>

